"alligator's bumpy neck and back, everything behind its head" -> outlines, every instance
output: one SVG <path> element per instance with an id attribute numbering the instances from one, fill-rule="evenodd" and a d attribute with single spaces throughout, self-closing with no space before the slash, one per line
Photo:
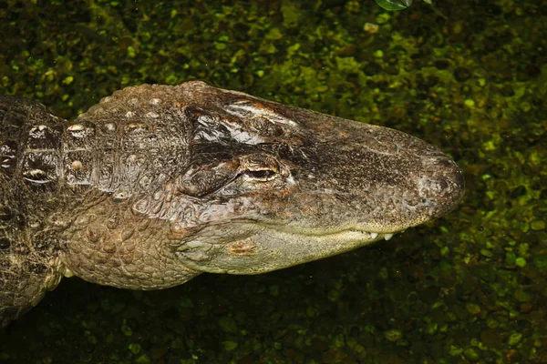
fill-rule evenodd
<path id="1" fill-rule="evenodd" d="M 181 107 L 160 105 L 161 98 L 176 99 L 174 92 L 129 87 L 73 123 L 35 101 L 0 96 L 0 326 L 36 305 L 63 275 L 126 288 L 188 279 L 145 278 L 170 267 L 148 253 L 158 248 L 142 244 L 164 227 L 149 227 L 148 218 L 131 212 L 135 199 L 150 197 L 188 163 L 191 125 Z M 121 268 L 112 245 L 126 249 Z M 141 256 L 135 276 L 142 277 L 132 276 L 127 268 Z M 131 286 L 126 276 L 145 283 Z"/>

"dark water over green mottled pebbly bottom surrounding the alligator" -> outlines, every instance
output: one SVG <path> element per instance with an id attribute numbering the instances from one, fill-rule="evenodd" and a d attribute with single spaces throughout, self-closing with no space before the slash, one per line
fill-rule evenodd
<path id="1" fill-rule="evenodd" d="M 0 361 L 547 363 L 547 1 L 433 2 L 1 0 L 2 94 L 72 118 L 201 79 L 419 136 L 467 193 L 389 242 L 262 276 L 65 279 L 0 330 Z"/>

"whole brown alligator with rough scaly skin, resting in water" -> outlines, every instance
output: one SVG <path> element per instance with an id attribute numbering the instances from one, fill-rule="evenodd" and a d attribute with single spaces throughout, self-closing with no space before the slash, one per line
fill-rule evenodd
<path id="1" fill-rule="evenodd" d="M 438 148 L 191 81 L 129 86 L 72 121 L 0 96 L 0 326 L 63 277 L 159 289 L 259 274 L 439 217 Z"/>

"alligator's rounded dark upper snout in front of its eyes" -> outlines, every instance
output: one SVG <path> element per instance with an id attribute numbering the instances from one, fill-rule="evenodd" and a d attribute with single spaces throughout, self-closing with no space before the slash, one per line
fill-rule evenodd
<path id="1" fill-rule="evenodd" d="M 451 211 L 463 195 L 456 163 L 417 137 L 332 116 L 301 124 L 315 140 L 303 149 L 315 158 L 300 163 L 307 173 L 294 199 L 304 212 L 301 201 L 313 201 L 305 203 L 314 207 L 306 227 L 390 234 Z"/>

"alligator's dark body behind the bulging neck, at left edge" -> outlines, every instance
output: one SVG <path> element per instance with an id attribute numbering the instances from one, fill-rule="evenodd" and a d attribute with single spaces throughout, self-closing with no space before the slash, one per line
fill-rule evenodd
<path id="1" fill-rule="evenodd" d="M 45 218 L 59 203 L 50 182 L 58 177 L 63 122 L 34 101 L 0 96 L 0 326 L 61 278 Z"/>

